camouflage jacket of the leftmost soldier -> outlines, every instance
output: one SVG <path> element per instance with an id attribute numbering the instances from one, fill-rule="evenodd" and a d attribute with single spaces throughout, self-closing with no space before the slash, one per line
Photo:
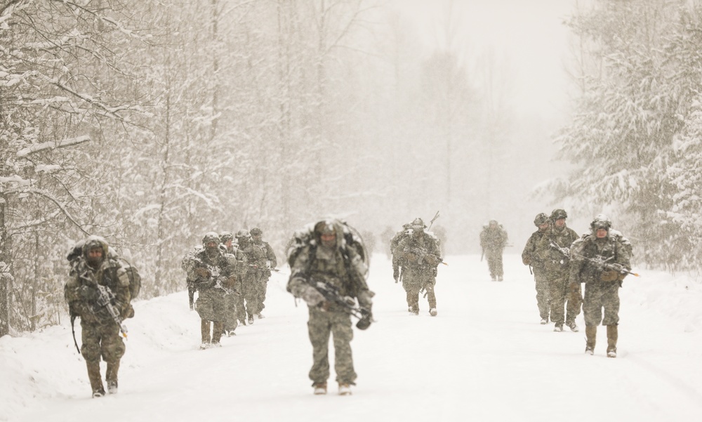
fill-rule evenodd
<path id="1" fill-rule="evenodd" d="M 105 286 L 114 295 L 114 305 L 124 319 L 130 315 L 131 294 L 129 276 L 119 261 L 107 255 L 102 265 L 95 269 L 81 256 L 74 261 L 69 272 L 69 280 L 64 286 L 64 297 L 72 317 L 81 317 L 81 322 L 94 324 L 116 324 L 105 306 L 100 306 L 100 286 Z M 108 293 L 108 294 L 109 294 Z"/>

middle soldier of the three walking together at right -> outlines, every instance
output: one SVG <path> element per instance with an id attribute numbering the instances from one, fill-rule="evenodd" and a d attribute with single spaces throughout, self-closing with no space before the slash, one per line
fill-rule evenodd
<path id="1" fill-rule="evenodd" d="M 570 275 L 570 247 L 578 239 L 575 230 L 567 227 L 568 214 L 562 209 L 555 209 L 549 218 L 550 225 L 541 240 L 538 241 L 537 254 L 544 263 L 546 278 L 548 279 L 548 294 L 550 297 L 551 321 L 554 323 L 553 331 L 563 331 L 563 322 L 571 331 L 578 331 L 575 323 L 580 314 L 583 302 L 580 284 L 576 290 L 569 290 L 568 278 Z M 567 305 L 566 305 L 567 301 Z M 567 315 L 564 315 L 564 306 Z"/>

